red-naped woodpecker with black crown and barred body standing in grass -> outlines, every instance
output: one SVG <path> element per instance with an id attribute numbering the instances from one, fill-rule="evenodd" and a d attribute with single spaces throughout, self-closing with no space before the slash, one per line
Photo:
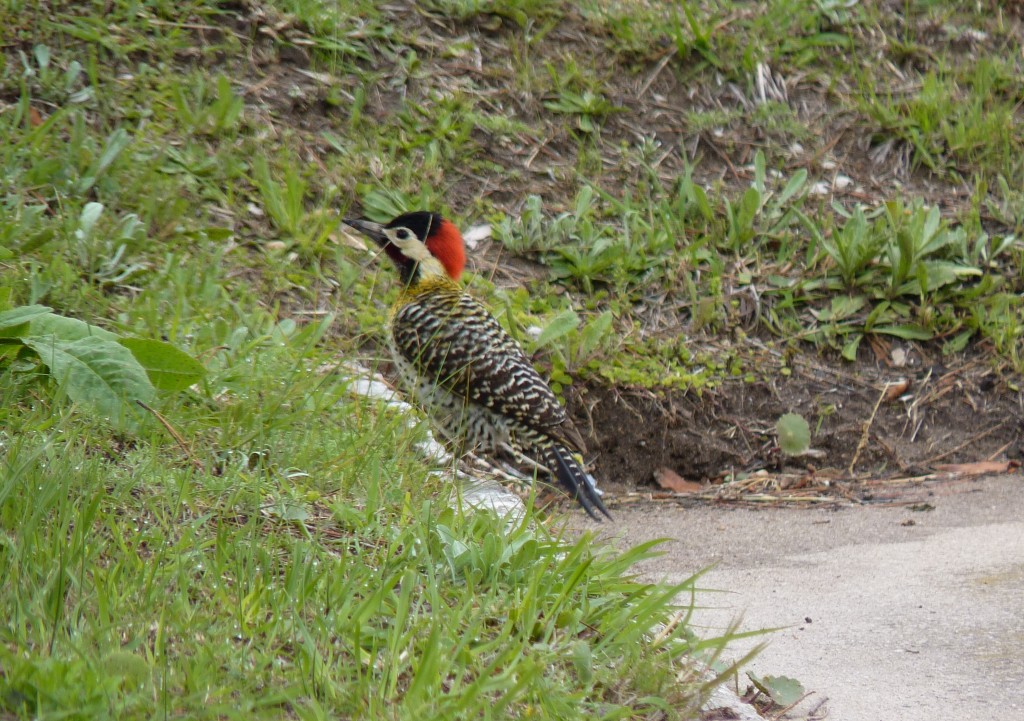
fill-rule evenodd
<path id="1" fill-rule="evenodd" d="M 460 453 L 526 461 L 555 476 L 594 520 L 611 518 L 583 465 L 583 438 L 522 347 L 459 286 L 462 234 L 437 213 L 387 223 L 346 218 L 380 246 L 402 289 L 391 354 L 403 385 Z"/>

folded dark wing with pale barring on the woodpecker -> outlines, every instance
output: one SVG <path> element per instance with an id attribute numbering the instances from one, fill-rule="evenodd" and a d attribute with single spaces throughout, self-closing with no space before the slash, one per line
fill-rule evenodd
<path id="1" fill-rule="evenodd" d="M 391 333 L 406 359 L 467 401 L 582 451 L 565 409 L 495 316 L 465 293 L 446 300 L 411 302 L 394 315 Z"/>

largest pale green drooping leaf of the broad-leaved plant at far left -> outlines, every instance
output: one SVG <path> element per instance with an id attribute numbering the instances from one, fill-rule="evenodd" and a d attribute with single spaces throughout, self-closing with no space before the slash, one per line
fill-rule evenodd
<path id="1" fill-rule="evenodd" d="M 35 350 L 75 402 L 88 406 L 116 428 L 134 430 L 139 413 L 135 401 L 152 401 L 156 390 L 128 348 L 116 341 L 89 336 L 63 340 L 29 337 Z"/>

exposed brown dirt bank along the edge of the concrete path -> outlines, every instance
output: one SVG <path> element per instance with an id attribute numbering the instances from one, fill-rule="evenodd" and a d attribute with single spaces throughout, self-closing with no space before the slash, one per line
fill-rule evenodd
<path id="1" fill-rule="evenodd" d="M 650 490 L 660 468 L 711 483 L 762 470 L 856 481 L 1021 457 L 1024 394 L 979 360 L 916 369 L 790 363 L 788 375 L 776 362 L 762 374 L 770 380 L 728 380 L 700 394 L 586 386 L 572 411 L 590 430 L 596 475 L 615 493 Z M 903 392 L 885 398 L 888 384 L 904 381 Z M 780 453 L 775 422 L 785 413 L 810 424 L 812 456 Z"/>

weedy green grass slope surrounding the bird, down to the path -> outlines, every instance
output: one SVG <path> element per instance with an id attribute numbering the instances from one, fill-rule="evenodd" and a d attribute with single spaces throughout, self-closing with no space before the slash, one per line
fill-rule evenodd
<path id="1" fill-rule="evenodd" d="M 492 222 L 548 272 L 470 287 L 558 388 L 745 378 L 745 334 L 1019 373 L 1004 12 L 4 1 L 0 311 L 164 338 L 207 375 L 155 404 L 185 453 L 0 343 L 2 713 L 687 717 L 678 664 L 725 639 L 643 640 L 679 590 L 624 576 L 649 549 L 450 510 L 420 431 L 330 372 L 372 359 L 394 292 L 339 218 Z M 820 195 L 840 173 L 861 189 Z"/>

